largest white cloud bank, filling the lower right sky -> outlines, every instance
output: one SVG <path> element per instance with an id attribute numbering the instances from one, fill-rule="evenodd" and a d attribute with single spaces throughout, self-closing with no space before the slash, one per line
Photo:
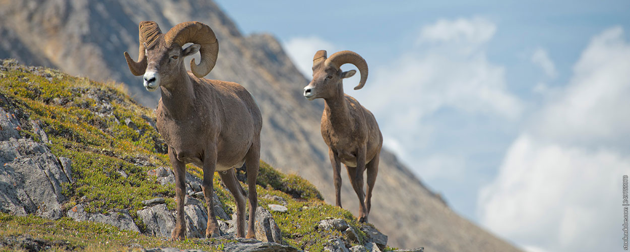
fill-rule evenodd
<path id="1" fill-rule="evenodd" d="M 508 149 L 480 190 L 479 220 L 530 251 L 621 250 L 621 176 L 630 174 L 630 43 L 595 36 L 570 83 Z"/>

